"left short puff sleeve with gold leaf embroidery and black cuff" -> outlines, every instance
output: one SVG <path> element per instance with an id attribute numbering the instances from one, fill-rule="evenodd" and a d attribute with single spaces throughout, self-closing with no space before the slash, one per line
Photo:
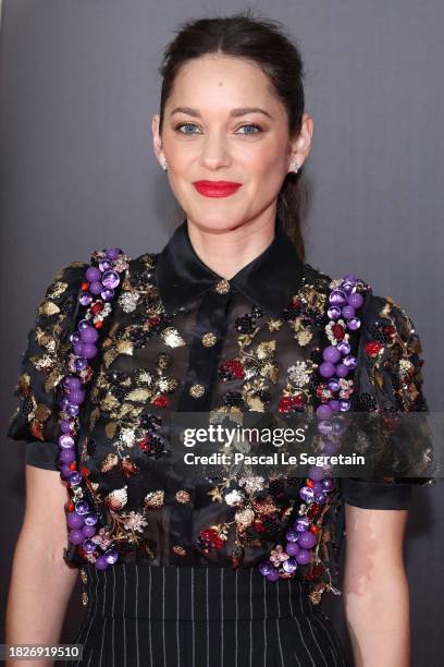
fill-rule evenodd
<path id="1" fill-rule="evenodd" d="M 73 262 L 54 276 L 37 307 L 21 356 L 21 375 L 14 392 L 18 405 L 11 415 L 8 436 L 26 442 L 26 463 L 46 470 L 59 470 L 60 408 L 55 387 L 65 374 L 69 337 L 75 328 L 78 292 L 87 267 Z"/>

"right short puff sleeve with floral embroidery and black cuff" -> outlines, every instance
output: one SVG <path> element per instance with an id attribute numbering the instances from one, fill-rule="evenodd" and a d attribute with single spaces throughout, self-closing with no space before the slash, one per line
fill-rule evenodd
<path id="1" fill-rule="evenodd" d="M 415 324 L 392 298 L 366 295 L 355 371 L 356 412 L 428 412 L 422 391 L 422 347 Z M 400 415 L 402 416 L 402 415 Z M 424 415 L 422 415 L 424 417 Z M 411 421 L 411 426 L 386 433 L 384 447 L 406 452 L 421 476 L 383 476 L 375 480 L 343 477 L 343 499 L 368 509 L 408 509 L 411 486 L 433 485 L 428 476 L 433 468 L 430 437 Z M 408 448 L 408 449 L 406 449 Z M 408 453 L 407 453 L 408 452 Z"/>

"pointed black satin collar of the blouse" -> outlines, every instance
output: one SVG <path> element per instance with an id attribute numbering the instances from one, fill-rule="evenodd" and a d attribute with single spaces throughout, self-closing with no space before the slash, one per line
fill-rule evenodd
<path id="1" fill-rule="evenodd" d="M 196 254 L 186 219 L 158 254 L 156 274 L 159 294 L 168 314 L 214 289 L 222 280 Z M 304 263 L 276 218 L 272 242 L 229 280 L 230 291 L 240 292 L 255 305 L 279 317 L 298 291 L 303 276 Z"/>

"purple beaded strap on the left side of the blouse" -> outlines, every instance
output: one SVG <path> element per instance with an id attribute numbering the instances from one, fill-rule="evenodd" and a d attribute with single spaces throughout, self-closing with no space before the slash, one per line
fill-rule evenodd
<path id="1" fill-rule="evenodd" d="M 78 553 L 94 562 L 99 570 L 116 562 L 118 551 L 113 548 L 103 550 L 100 539 L 95 536 L 99 526 L 99 517 L 86 500 L 86 480 L 77 470 L 75 438 L 78 435 L 78 414 L 85 401 L 86 385 L 90 381 L 92 369 L 89 360 L 97 353 L 99 329 L 111 313 L 111 302 L 115 299 L 115 289 L 121 276 L 128 266 L 127 257 L 119 248 L 96 251 L 91 255 L 91 266 L 86 271 L 86 281 L 81 286 L 78 301 L 86 307 L 77 330 L 71 333 L 73 353 L 70 354 L 69 374 L 61 383 L 59 397 L 61 477 L 66 483 L 70 500 L 65 506 L 69 542 L 76 545 Z"/>

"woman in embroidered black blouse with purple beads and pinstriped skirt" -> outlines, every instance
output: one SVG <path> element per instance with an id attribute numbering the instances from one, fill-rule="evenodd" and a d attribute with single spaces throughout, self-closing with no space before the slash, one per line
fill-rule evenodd
<path id="1" fill-rule="evenodd" d="M 427 404 L 405 311 L 305 263 L 313 120 L 296 46 L 250 13 L 199 20 L 161 73 L 153 148 L 186 219 L 158 254 L 64 267 L 39 306 L 9 430 L 28 445 L 8 641 L 57 643 L 79 570 L 84 651 L 69 664 L 345 665 L 320 608 L 340 592 L 345 520 L 355 664 L 407 666 L 406 480 L 172 464 L 180 413 L 325 423 Z"/>

